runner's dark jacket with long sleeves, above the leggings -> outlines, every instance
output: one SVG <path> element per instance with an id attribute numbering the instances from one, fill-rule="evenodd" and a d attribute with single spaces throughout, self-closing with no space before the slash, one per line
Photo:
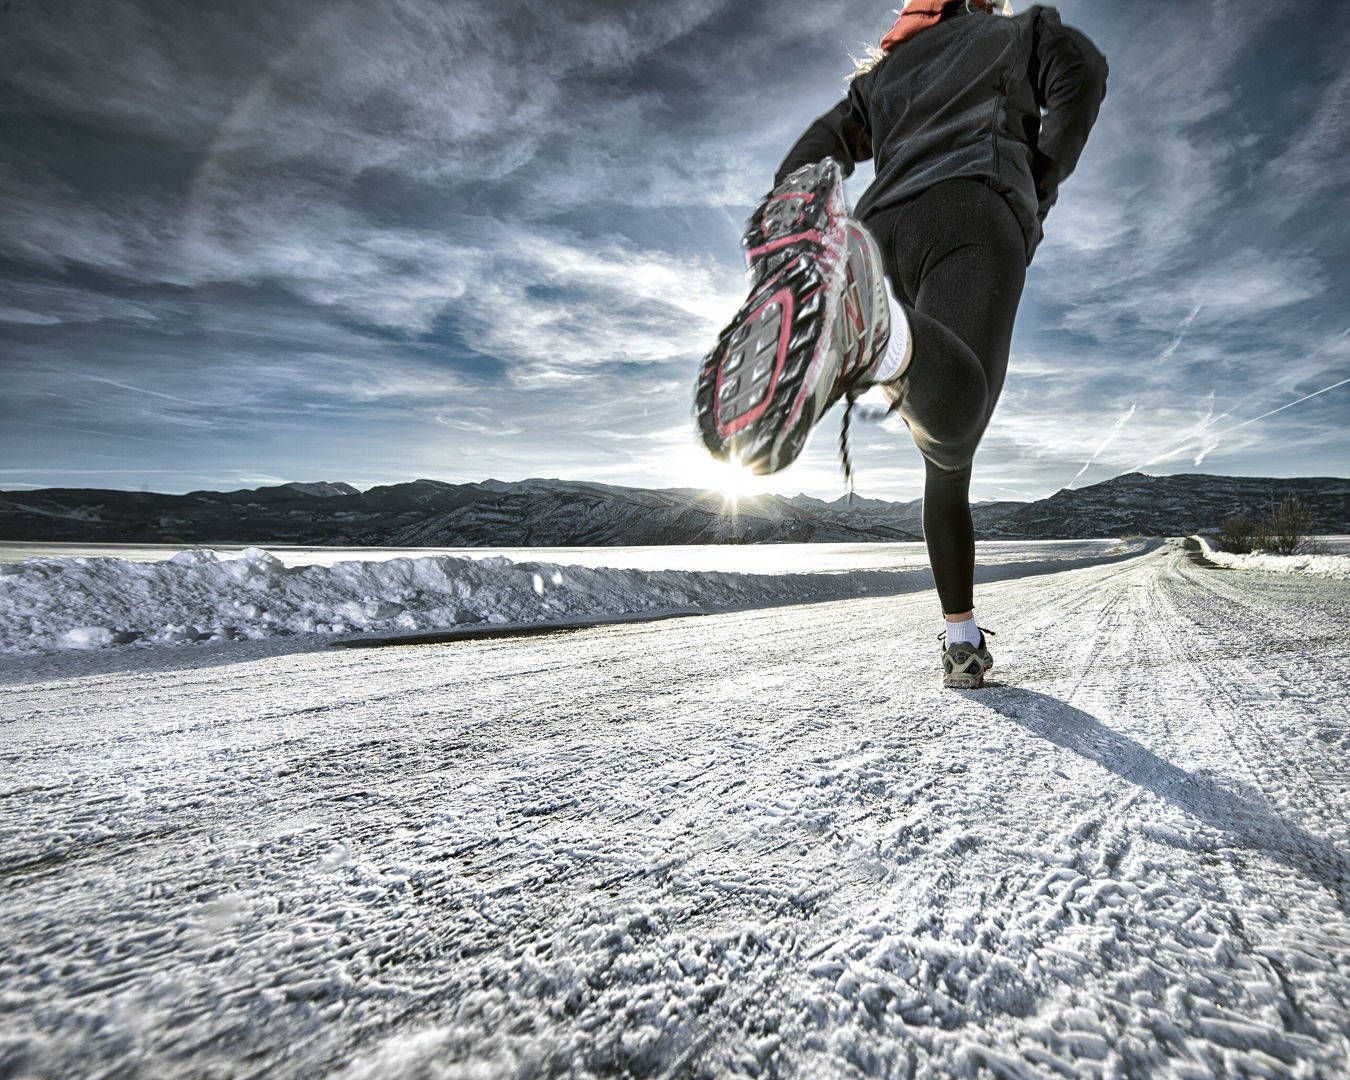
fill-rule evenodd
<path id="1" fill-rule="evenodd" d="M 1030 262 L 1096 120 L 1106 76 L 1106 58 L 1054 8 L 1003 18 L 957 0 L 853 80 L 848 97 L 796 140 L 775 184 L 826 157 L 845 176 L 875 157 L 876 180 L 855 209 L 865 221 L 938 181 L 983 178 L 1018 216 Z"/>

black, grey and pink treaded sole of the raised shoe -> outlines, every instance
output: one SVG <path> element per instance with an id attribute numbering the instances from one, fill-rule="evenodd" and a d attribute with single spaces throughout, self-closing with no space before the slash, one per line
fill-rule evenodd
<path id="1" fill-rule="evenodd" d="M 776 473 L 801 454 L 826 402 L 844 281 L 844 194 L 833 161 L 798 170 L 751 215 L 749 300 L 703 359 L 694 410 L 716 458 Z M 824 389 L 822 389 L 824 387 Z"/>

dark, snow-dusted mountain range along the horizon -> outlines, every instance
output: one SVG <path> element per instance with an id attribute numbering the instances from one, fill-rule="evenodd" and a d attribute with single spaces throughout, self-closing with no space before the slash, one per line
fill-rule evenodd
<path id="1" fill-rule="evenodd" d="M 1350 533 L 1350 479 L 1127 473 L 1035 502 L 975 506 L 980 539 L 1177 536 L 1296 494 L 1312 531 Z M 918 540 L 921 501 L 744 498 L 576 481 L 413 481 L 360 491 L 286 483 L 185 495 L 103 489 L 0 491 L 0 540 L 356 547 L 563 547 Z"/>

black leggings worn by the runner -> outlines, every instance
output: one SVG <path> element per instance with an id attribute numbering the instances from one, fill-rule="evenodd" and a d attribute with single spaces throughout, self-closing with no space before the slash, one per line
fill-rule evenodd
<path id="1" fill-rule="evenodd" d="M 892 401 L 923 455 L 923 539 L 948 614 L 975 606 L 971 460 L 1008 364 L 1026 278 L 1022 228 L 980 180 L 945 180 L 865 221 L 910 317 L 914 358 Z"/>

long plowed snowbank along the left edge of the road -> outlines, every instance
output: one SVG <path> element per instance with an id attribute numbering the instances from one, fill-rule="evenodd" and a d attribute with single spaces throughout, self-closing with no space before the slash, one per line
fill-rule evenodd
<path id="1" fill-rule="evenodd" d="M 1143 547 L 1042 544 L 1022 560 L 981 566 L 980 580 L 1120 559 Z M 932 580 L 926 567 L 728 574 L 444 555 L 286 566 L 261 548 L 230 559 L 209 549 L 161 562 L 28 559 L 0 563 L 0 652 L 711 612 L 900 593 L 929 589 Z"/>

